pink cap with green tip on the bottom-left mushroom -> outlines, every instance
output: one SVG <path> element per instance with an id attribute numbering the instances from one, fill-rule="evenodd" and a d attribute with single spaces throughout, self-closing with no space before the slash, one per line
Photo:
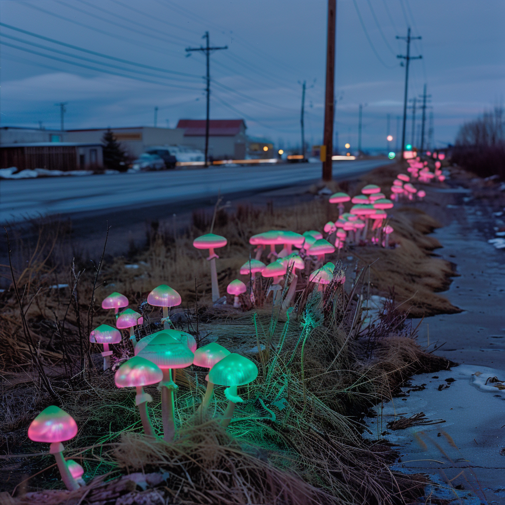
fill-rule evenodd
<path id="1" fill-rule="evenodd" d="M 56 405 L 44 409 L 30 424 L 28 438 L 34 442 L 64 442 L 77 435 L 74 418 Z"/>

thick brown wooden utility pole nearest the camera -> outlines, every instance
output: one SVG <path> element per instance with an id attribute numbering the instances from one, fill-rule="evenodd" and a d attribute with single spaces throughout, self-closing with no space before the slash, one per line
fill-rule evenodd
<path id="1" fill-rule="evenodd" d="M 337 0 L 328 0 L 328 28 L 326 35 L 326 91 L 324 106 L 323 144 L 326 156 L 323 161 L 323 180 L 332 180 L 334 87 L 335 87 L 335 25 L 337 19 Z"/>

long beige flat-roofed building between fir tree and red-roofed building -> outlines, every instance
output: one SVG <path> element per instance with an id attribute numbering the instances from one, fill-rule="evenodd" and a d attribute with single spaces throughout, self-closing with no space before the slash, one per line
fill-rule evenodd
<path id="1" fill-rule="evenodd" d="M 107 128 L 66 130 L 65 140 L 70 142 L 100 143 L 107 130 Z M 138 126 L 131 128 L 110 128 L 110 130 L 131 158 L 138 158 L 149 147 L 184 144 L 184 130 L 178 128 Z"/>

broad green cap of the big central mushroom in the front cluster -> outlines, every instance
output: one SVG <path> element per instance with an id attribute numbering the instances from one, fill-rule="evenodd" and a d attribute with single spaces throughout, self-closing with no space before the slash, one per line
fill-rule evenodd
<path id="1" fill-rule="evenodd" d="M 152 361 L 161 369 L 186 368 L 192 365 L 194 359 L 186 345 L 174 342 L 167 333 L 156 335 L 137 356 Z"/>

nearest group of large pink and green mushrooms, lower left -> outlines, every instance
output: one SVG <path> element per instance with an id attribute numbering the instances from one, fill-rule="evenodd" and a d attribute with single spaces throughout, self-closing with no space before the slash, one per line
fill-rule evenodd
<path id="1" fill-rule="evenodd" d="M 258 376 L 258 367 L 251 360 L 230 352 L 218 343 L 210 343 L 196 348 L 196 341 L 192 335 L 168 328 L 167 326 L 170 324 L 168 309 L 181 302 L 179 294 L 171 287 L 158 286 L 149 293 L 147 299 L 150 305 L 163 308 L 165 328 L 141 338 L 138 342 L 135 337 L 131 338 L 131 334 L 133 326 L 142 324 L 142 317 L 135 313 L 139 316 L 135 319 L 131 315 L 134 312 L 131 309 L 125 309 L 119 313 L 119 309 L 128 305 L 128 299 L 120 293 L 112 293 L 103 302 L 104 308 L 115 310 L 116 322 L 121 321 L 125 313 L 128 315 L 128 320 L 135 320 L 135 325 L 127 326 L 134 346 L 134 357 L 118 368 L 114 380 L 119 388 L 135 388 L 135 404 L 139 410 L 144 433 L 147 436 L 156 437 L 147 410 L 147 403 L 153 398 L 144 391 L 143 387 L 158 384 L 158 389 L 161 391 L 163 439 L 167 442 L 174 439 L 176 431 L 174 393 L 178 389 L 175 383 L 176 370 L 191 365 L 209 371 L 206 376 L 206 393 L 198 407 L 198 412 L 201 415 L 205 415 L 207 411 L 214 385 L 226 386 L 224 394 L 228 400 L 228 406 L 222 416 L 221 425 L 228 426 L 233 417 L 235 405 L 243 401 L 238 395 L 237 388 L 254 381 Z M 179 300 L 178 303 L 174 303 L 177 300 Z M 121 324 L 117 324 L 117 326 L 118 328 L 126 328 Z M 109 325 L 100 325 L 91 332 L 90 341 L 104 345 L 104 368 L 106 362 L 110 366 L 109 360 L 112 351 L 109 345 L 121 341 L 119 330 Z M 85 484 L 82 479 L 83 468 L 75 461 L 66 461 L 63 458 L 64 446 L 62 442 L 74 438 L 76 434 L 75 420 L 55 405 L 44 409 L 28 428 L 28 437 L 31 440 L 51 444 L 49 452 L 55 455 L 62 480 L 69 490 L 78 489 Z"/>

